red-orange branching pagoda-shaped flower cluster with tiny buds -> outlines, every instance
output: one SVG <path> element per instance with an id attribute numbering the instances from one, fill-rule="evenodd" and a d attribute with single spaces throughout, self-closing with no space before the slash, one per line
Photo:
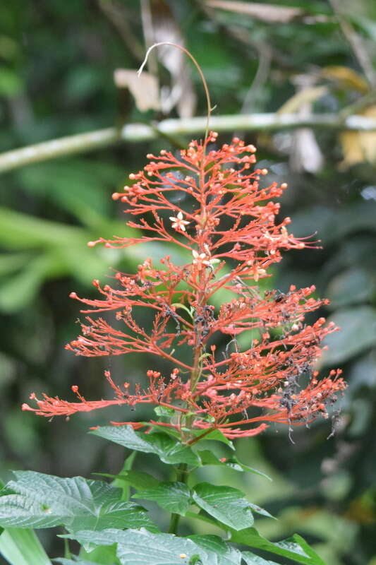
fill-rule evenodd
<path id="1" fill-rule="evenodd" d="M 25 404 L 24 410 L 51 417 L 150 403 L 178 415 L 165 426 L 184 428 L 184 434 L 219 429 L 228 438 L 253 436 L 269 422 L 291 425 L 327 417 L 327 404 L 346 385 L 340 370 L 319 379 L 314 369 L 322 339 L 337 328 L 323 318 L 312 325 L 304 321 L 327 300 L 313 298 L 313 286 L 291 285 L 283 293 L 262 292 L 257 285 L 281 260 L 282 250 L 315 244 L 289 233 L 290 218 L 277 221 L 279 204 L 270 199 L 281 196 L 287 185 L 260 186 L 267 170 L 253 170 L 255 147 L 238 138 L 219 149 L 212 149 L 214 143 L 217 133 L 210 132 L 203 143 L 192 141 L 178 156 L 166 150 L 147 155 L 149 163 L 130 175 L 130 186 L 113 195 L 135 217 L 128 226 L 139 228 L 140 236 L 89 244 L 122 248 L 166 242 L 181 248 L 189 262 L 176 264 L 164 256 L 154 265 L 147 258 L 136 274 L 116 273 L 112 285 L 95 280 L 98 299 L 71 294 L 84 304 L 87 317 L 82 335 L 68 350 L 86 357 L 154 354 L 166 360 L 166 374 L 150 369 L 149 386 L 131 390 L 129 383 L 114 383 L 106 371 L 114 389 L 111 400 L 86 400 L 73 386 L 75 402 L 47 395 L 38 400 L 32 394 L 37 406 Z M 213 297 L 223 289 L 234 298 L 217 311 Z M 142 309 L 153 313 L 150 328 L 139 321 Z M 114 311 L 114 326 L 96 316 L 107 311 Z M 218 345 L 221 334 L 226 347 Z M 186 354 L 179 355 L 187 345 L 192 352 L 188 361 Z"/>

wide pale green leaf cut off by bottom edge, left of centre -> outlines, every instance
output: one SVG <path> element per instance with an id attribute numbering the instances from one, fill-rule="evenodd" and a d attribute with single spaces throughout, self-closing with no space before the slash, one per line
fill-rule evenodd
<path id="1" fill-rule="evenodd" d="M 81 531 L 69 537 L 82 544 L 112 545 L 117 543 L 117 556 L 122 565 L 189 565 L 195 555 L 205 565 L 217 565 L 217 556 L 202 549 L 192 540 L 172 534 L 152 534 L 141 530 Z"/>

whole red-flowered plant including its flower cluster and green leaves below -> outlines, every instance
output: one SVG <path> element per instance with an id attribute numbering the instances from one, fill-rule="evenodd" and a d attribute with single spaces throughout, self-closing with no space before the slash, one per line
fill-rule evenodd
<path id="1" fill-rule="evenodd" d="M 171 513 L 169 534 L 160 533 L 145 509 L 127 501 L 119 488 L 82 477 L 31 472 L 16 472 L 16 480 L 8 483 L 0 499 L 0 524 L 64 525 L 68 537 L 91 542 L 89 548 L 96 548 L 92 562 L 99 563 L 271 562 L 241 552 L 220 537 L 176 537 L 180 516 L 188 515 L 219 526 L 241 545 L 298 563 L 322 564 L 301 537 L 286 545 L 257 534 L 252 510 L 262 509 L 237 489 L 194 484 L 190 473 L 213 464 L 250 470 L 234 457 L 217 458 L 200 442 L 212 439 L 230 446 L 231 439 L 260 434 L 270 422 L 292 427 L 326 418 L 328 403 L 345 388 L 340 370 L 321 378 L 315 370 L 322 339 L 337 328 L 323 318 L 305 323 L 305 314 L 327 301 L 313 297 L 313 286 L 291 285 L 288 292 L 280 292 L 262 291 L 257 284 L 281 261 L 281 251 L 303 250 L 315 242 L 289 233 L 290 218 L 277 220 L 279 203 L 272 199 L 287 185 L 265 186 L 267 170 L 254 168 L 253 145 L 238 138 L 218 145 L 217 133 L 210 132 L 179 153 L 162 150 L 147 158 L 142 171 L 130 174 L 129 186 L 113 195 L 133 216 L 128 226 L 139 229 L 140 236 L 101 238 L 90 245 L 119 249 L 166 242 L 188 256 L 188 262 L 176 263 L 170 256 L 160 261 L 145 258 L 136 273 L 116 273 L 111 285 L 95 280 L 97 299 L 73 292 L 71 297 L 84 305 L 87 316 L 81 335 L 67 348 L 86 357 L 147 353 L 164 359 L 166 372 L 151 367 L 148 386 L 132 388 L 128 382 L 115 383 L 105 371 L 112 399 L 88 400 L 72 386 L 74 402 L 32 394 L 36 405 L 25 404 L 23 409 L 53 417 L 110 405 L 156 406 L 155 420 L 111 422 L 112 427 L 94 433 L 135 451 L 156 453 L 176 466 L 172 482 L 159 483 L 152 475 L 132 471 L 129 464 L 117 479 L 135 488 L 135 497 L 154 500 Z M 215 295 L 223 290 L 232 299 L 216 309 Z M 145 310 L 153 316 L 147 328 L 142 324 Z M 114 323 L 102 317 L 104 312 L 114 315 Z M 101 550 L 113 544 L 112 560 L 103 561 Z M 82 549 L 80 556 L 85 559 L 87 552 Z M 70 559 L 66 554 L 61 562 L 76 562 Z"/>

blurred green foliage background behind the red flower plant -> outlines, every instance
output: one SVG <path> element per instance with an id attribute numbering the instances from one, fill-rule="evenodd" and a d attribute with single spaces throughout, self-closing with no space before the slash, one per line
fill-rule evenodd
<path id="1" fill-rule="evenodd" d="M 147 5 L 158 37 L 164 30 L 162 39 L 169 40 L 169 29 L 174 30 L 202 65 L 218 115 L 275 112 L 303 88 L 302 83 L 304 88 L 326 87 L 324 95 L 308 102 L 309 111 L 339 112 L 375 88 L 341 32 L 334 4 L 289 1 L 290 7 L 301 8 L 301 15 L 286 21 L 281 15 L 267 19 L 271 2 L 264 3 L 265 11 L 257 17 L 209 4 L 190 0 L 3 3 L 0 150 L 163 117 L 162 112 L 140 114 L 130 95 L 116 90 L 112 79 L 114 69 L 136 69 L 140 64 L 145 44 L 142 10 Z M 283 1 L 274 5 L 284 8 Z M 355 7 L 344 0 L 341 9 L 372 62 L 375 4 L 359 0 Z M 190 66 L 185 72 L 190 74 Z M 162 85 L 170 83 L 164 66 L 159 66 L 159 79 Z M 197 113 L 204 114 L 205 99 L 194 72 L 192 81 Z M 302 107 L 296 111 L 303 111 Z M 287 254 L 270 284 L 281 291 L 291 283 L 315 284 L 319 295 L 331 299 L 322 313 L 343 329 L 328 339 L 330 348 L 322 366 L 343 367 L 348 391 L 339 401 L 341 415 L 334 414 L 335 434 L 329 440 L 332 424 L 324 422 L 296 429 L 292 441 L 284 430 L 272 427 L 260 438 L 239 442 L 241 459 L 272 475 L 272 484 L 253 475 L 234 477 L 223 468 L 211 470 L 209 477 L 202 471 L 201 477 L 215 484 L 229 480 L 235 487 L 246 486 L 253 501 L 279 518 L 259 520 L 262 534 L 277 539 L 298 531 L 330 565 L 376 561 L 376 136 L 362 135 L 347 134 L 344 139 L 322 130 L 308 137 L 302 131 L 245 136 L 247 143 L 257 145 L 260 166 L 269 168 L 268 181 L 289 183 L 282 209 L 293 218 L 293 233 L 318 232 L 322 241 L 320 251 Z M 129 172 L 142 167 L 146 153 L 162 147 L 171 145 L 164 139 L 128 143 L 29 165 L 1 177 L 0 464 L 4 470 L 89 476 L 93 471 L 121 468 L 121 449 L 109 446 L 103 451 L 102 443 L 85 430 L 112 418 L 142 419 L 140 408 L 136 414 L 124 416 L 123 410 L 114 409 L 105 416 L 90 413 L 66 423 L 46 422 L 20 412 L 19 407 L 31 391 L 67 398 L 73 383 L 87 397 L 105 396 L 102 371 L 109 363 L 115 378 L 127 381 L 142 379 L 150 367 L 163 369 L 158 359 L 80 359 L 63 349 L 75 337 L 78 317 L 78 304 L 68 298 L 69 292 L 74 289 L 89 296 L 93 278 L 105 280 L 111 267 L 131 271 L 147 256 L 148 250 L 141 246 L 114 251 L 89 249 L 86 242 L 130 232 L 110 195 L 121 188 Z M 360 156 L 359 148 L 363 148 Z M 162 254 L 155 249 L 154 256 Z M 142 464 L 141 456 L 140 469 Z M 240 480 L 242 485 L 237 485 Z M 192 528 L 200 531 L 197 524 Z"/>

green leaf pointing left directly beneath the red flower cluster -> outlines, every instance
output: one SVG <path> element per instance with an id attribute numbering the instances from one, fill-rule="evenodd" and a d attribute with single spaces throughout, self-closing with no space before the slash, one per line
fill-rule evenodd
<path id="1" fill-rule="evenodd" d="M 182 446 L 179 441 L 162 432 L 146 435 L 143 432 L 135 432 L 131 426 L 104 426 L 90 433 L 114 441 L 115 444 L 128 449 L 154 453 L 168 465 L 187 463 L 196 466 L 200 464 L 198 456 L 192 449 Z"/>

